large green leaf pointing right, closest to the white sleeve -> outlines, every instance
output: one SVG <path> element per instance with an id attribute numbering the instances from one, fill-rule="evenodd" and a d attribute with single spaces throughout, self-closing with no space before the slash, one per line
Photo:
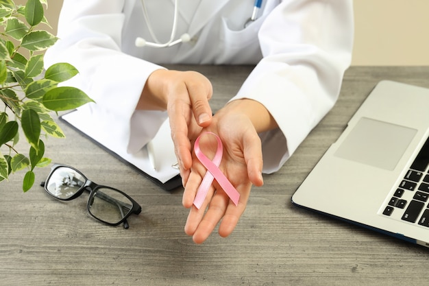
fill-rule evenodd
<path id="1" fill-rule="evenodd" d="M 71 110 L 88 102 L 94 101 L 79 88 L 70 86 L 52 88 L 42 100 L 43 105 L 53 111 Z"/>

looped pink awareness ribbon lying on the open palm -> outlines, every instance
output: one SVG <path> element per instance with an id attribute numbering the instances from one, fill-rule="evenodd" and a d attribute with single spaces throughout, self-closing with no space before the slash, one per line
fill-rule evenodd
<path id="1" fill-rule="evenodd" d="M 210 160 L 207 158 L 206 155 L 199 149 L 199 139 L 204 134 L 212 134 L 216 136 L 217 139 L 217 150 L 215 157 L 213 157 L 213 160 Z M 216 179 L 217 182 L 221 185 L 223 191 L 230 197 L 232 202 L 234 202 L 235 205 L 238 204 L 238 199 L 240 198 L 240 193 L 234 188 L 234 186 L 231 184 L 230 180 L 225 177 L 225 175 L 222 173 L 222 171 L 219 169 L 219 165 L 221 165 L 222 160 L 222 154 L 223 154 L 223 146 L 222 141 L 217 136 L 217 134 L 212 132 L 206 132 L 204 134 L 201 134 L 198 136 L 197 140 L 195 140 L 194 144 L 194 151 L 195 155 L 197 156 L 198 160 L 201 162 L 201 164 L 206 167 L 207 172 L 204 176 L 201 184 L 198 187 L 197 195 L 195 196 L 194 205 L 199 209 L 201 208 L 204 200 L 206 199 L 206 195 L 208 192 L 208 189 L 210 188 L 210 185 L 213 182 L 213 179 Z"/>

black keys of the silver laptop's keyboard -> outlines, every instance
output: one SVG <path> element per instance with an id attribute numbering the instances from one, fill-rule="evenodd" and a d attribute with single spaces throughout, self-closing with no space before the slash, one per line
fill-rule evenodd
<path id="1" fill-rule="evenodd" d="M 401 211 L 401 219 L 429 228 L 429 138 L 384 207 L 383 215 Z"/>

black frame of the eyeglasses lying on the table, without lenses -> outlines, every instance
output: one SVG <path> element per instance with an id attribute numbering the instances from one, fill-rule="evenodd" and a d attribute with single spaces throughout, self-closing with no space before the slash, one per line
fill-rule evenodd
<path id="1" fill-rule="evenodd" d="M 66 168 L 70 168 L 73 169 L 73 171 L 76 171 L 77 174 L 79 174 L 80 176 L 82 176 L 82 178 L 85 179 L 84 183 L 82 184 L 82 186 L 79 187 L 79 189 L 73 194 L 71 195 L 69 198 L 58 198 L 56 195 L 53 195 L 53 193 L 51 193 L 48 189 L 47 189 L 47 185 L 46 182 L 49 182 L 49 180 L 51 179 L 52 174 L 56 171 L 56 169 L 58 169 L 59 167 L 66 167 Z M 130 215 L 132 214 L 136 214 L 138 215 L 141 212 L 141 206 L 140 204 L 138 204 L 138 202 L 136 202 L 133 198 L 130 197 L 130 195 L 127 195 L 126 193 L 124 193 L 123 191 L 120 191 L 119 189 L 115 189 L 113 187 L 109 187 L 103 184 L 97 184 L 96 182 L 93 182 L 92 180 L 89 180 L 88 178 L 86 178 L 86 176 L 84 174 L 82 174 L 81 171 L 79 171 L 78 169 L 76 169 L 75 167 L 71 167 L 69 165 L 64 165 L 64 164 L 60 164 L 60 163 L 54 163 L 51 166 L 51 171 L 49 173 L 49 175 L 47 176 L 47 179 L 43 182 L 40 182 L 40 186 L 45 188 L 45 191 L 51 195 L 51 197 L 56 198 L 57 200 L 62 200 L 62 201 L 69 201 L 69 200 L 74 200 L 75 198 L 78 198 L 80 195 L 82 195 L 82 193 L 84 193 L 84 191 L 89 191 L 89 195 L 88 195 L 88 202 L 86 203 L 86 210 L 88 211 L 88 213 L 94 217 L 95 219 L 97 219 L 99 222 L 103 222 L 103 224 L 107 224 L 109 226 L 119 226 L 119 224 L 123 224 L 123 228 L 127 229 L 130 228 L 130 225 L 127 222 L 127 218 L 130 217 Z M 123 215 L 123 210 L 122 208 L 119 208 L 121 211 L 121 215 L 123 216 L 123 218 L 116 223 L 111 223 L 111 222 L 106 222 L 103 219 L 100 219 L 99 217 L 96 217 L 95 215 L 93 215 L 93 213 L 91 213 L 90 211 L 90 201 L 91 198 L 94 198 L 94 195 L 96 193 L 96 191 L 100 188 L 104 188 L 104 189 L 111 189 L 113 191 L 117 191 L 118 193 L 121 193 L 121 195 L 123 195 L 125 198 L 127 198 L 128 200 L 130 200 L 130 202 L 132 202 L 132 208 L 130 208 L 130 211 L 128 211 L 128 213 L 126 215 Z M 106 198 L 102 198 L 102 199 L 106 199 Z M 116 201 L 116 199 L 114 198 L 107 198 L 108 200 L 114 200 Z M 118 204 L 118 202 L 116 202 Z"/>

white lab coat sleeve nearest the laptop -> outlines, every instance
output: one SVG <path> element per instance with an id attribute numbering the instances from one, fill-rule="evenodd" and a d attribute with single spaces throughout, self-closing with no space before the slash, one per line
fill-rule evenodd
<path id="1" fill-rule="evenodd" d="M 282 1 L 258 38 L 263 58 L 234 99 L 263 104 L 279 128 L 260 134 L 272 173 L 334 106 L 353 45 L 352 1 Z"/>

